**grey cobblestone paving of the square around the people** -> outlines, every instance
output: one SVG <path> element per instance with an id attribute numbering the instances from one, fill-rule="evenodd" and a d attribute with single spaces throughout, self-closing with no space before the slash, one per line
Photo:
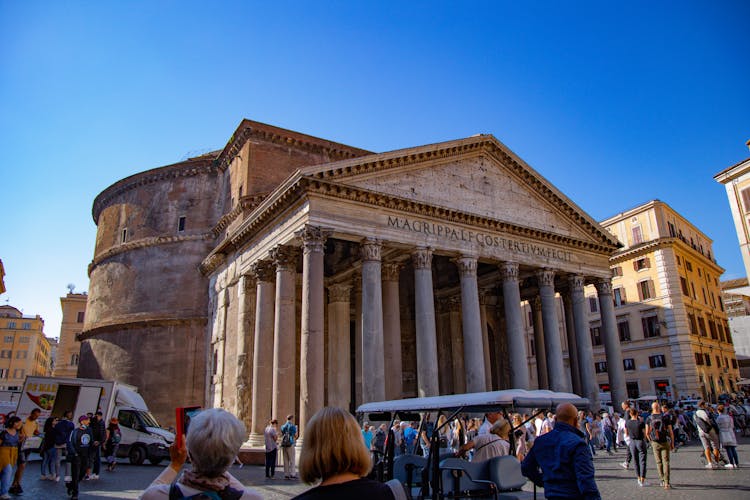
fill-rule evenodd
<path id="1" fill-rule="evenodd" d="M 708 470 L 699 460 L 701 448 L 692 443 L 672 455 L 673 490 L 665 491 L 658 486 L 659 478 L 653 455 L 648 456 L 647 479 L 651 486 L 639 488 L 633 469 L 624 470 L 621 463 L 625 459 L 624 450 L 614 456 L 598 452 L 594 458 L 596 481 L 602 498 L 671 498 L 711 500 L 750 498 L 750 438 L 740 439 L 737 449 L 740 456 L 739 470 Z M 161 472 L 163 466 L 133 466 L 121 463 L 115 472 L 102 471 L 101 478 L 81 484 L 82 499 L 137 498 L 151 481 Z M 23 481 L 23 498 L 31 499 L 64 499 L 65 487 L 62 482 L 54 483 L 39 479 L 40 461 L 32 461 L 26 470 Z M 249 485 L 269 500 L 291 498 L 308 486 L 297 480 L 267 480 L 263 477 L 263 467 L 245 466 L 231 469 L 243 484 Z M 278 472 L 277 472 L 278 477 Z M 531 487 L 527 484 L 527 490 Z M 540 495 L 539 498 L 543 498 Z"/>

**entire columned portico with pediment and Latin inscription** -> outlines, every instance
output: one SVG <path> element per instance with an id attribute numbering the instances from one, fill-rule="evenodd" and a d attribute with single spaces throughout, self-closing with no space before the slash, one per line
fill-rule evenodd
<path id="1" fill-rule="evenodd" d="M 227 320 L 217 318 L 232 299 L 222 297 L 242 280 L 256 284 L 234 298 L 251 301 L 239 309 L 255 315 L 245 319 L 254 325 L 255 345 L 245 348 L 252 369 L 242 372 L 252 377 L 253 442 L 271 417 L 298 415 L 304 439 L 324 405 L 532 389 L 532 378 L 596 400 L 583 309 L 583 286 L 596 284 L 613 401 L 621 401 L 608 286 L 617 247 L 492 136 L 303 168 L 203 263 L 216 304 L 212 366 L 225 366 Z M 538 305 L 534 354 L 524 301 Z M 209 400 L 220 404 L 229 382 L 213 374 Z"/>

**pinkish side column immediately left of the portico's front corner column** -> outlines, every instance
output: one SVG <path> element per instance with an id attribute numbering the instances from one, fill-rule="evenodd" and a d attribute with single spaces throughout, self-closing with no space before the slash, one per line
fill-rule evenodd
<path id="1" fill-rule="evenodd" d="M 270 252 L 276 265 L 276 312 L 273 335 L 273 415 L 280 421 L 294 414 L 297 358 L 295 320 L 296 248 L 280 245 Z"/>

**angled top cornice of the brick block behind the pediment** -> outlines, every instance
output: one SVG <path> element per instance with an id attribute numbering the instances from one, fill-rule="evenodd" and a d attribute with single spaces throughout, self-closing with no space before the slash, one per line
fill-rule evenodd
<path id="1" fill-rule="evenodd" d="M 224 150 L 216 159 L 219 170 L 226 170 L 232 160 L 239 154 L 242 147 L 253 138 L 259 141 L 276 144 L 279 146 L 292 147 L 294 149 L 308 151 L 310 153 L 327 155 L 332 161 L 356 158 L 372 154 L 364 149 L 345 146 L 336 142 L 320 139 L 313 136 L 293 132 L 273 125 L 243 120 L 237 131 L 232 134 Z"/>

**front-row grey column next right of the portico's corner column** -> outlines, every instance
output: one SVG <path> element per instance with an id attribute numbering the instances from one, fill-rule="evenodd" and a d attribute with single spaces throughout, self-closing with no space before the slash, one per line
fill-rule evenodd
<path id="1" fill-rule="evenodd" d="M 385 399 L 380 242 L 362 242 L 362 402 Z"/>

